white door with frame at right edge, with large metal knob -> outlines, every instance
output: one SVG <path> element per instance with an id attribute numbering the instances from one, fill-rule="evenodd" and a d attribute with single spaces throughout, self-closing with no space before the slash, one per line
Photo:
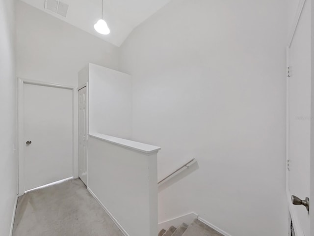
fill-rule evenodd
<path id="1" fill-rule="evenodd" d="M 313 118 L 311 118 L 311 1 L 300 0 L 294 3 L 294 14 L 289 16 L 294 22 L 291 24 L 292 33 L 287 48 L 287 196 L 295 234 L 313 236 L 314 233 L 310 233 L 308 210 L 303 205 L 293 205 L 291 201 L 291 195 L 301 200 L 311 199 L 310 137 Z"/>

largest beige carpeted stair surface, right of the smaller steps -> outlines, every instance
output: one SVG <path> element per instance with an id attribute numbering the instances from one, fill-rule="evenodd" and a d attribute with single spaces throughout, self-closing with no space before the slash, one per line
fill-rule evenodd
<path id="1" fill-rule="evenodd" d="M 195 219 L 190 224 L 182 236 L 223 236 L 215 231 L 208 225 L 202 223 L 200 220 Z"/>

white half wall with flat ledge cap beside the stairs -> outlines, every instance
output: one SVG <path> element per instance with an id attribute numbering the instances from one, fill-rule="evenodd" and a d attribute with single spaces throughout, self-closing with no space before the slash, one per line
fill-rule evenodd
<path id="1" fill-rule="evenodd" d="M 156 236 L 159 148 L 92 135 L 88 137 L 87 187 L 129 236 Z M 154 151 L 148 154 L 147 150 Z"/>

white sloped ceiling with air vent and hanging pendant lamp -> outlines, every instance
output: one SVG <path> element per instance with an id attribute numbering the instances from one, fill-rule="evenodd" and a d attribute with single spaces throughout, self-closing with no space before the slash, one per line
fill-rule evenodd
<path id="1" fill-rule="evenodd" d="M 94 29 L 102 16 L 102 0 L 61 0 L 69 4 L 66 17 L 46 10 L 45 0 L 22 1 L 119 47 L 135 27 L 170 0 L 104 0 L 104 19 L 110 28 L 108 35 Z"/>

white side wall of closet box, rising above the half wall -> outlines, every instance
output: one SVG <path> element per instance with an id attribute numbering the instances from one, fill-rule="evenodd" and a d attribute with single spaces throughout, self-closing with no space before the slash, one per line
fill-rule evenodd
<path id="1" fill-rule="evenodd" d="M 131 139 L 131 76 L 91 63 L 88 71 L 89 132 Z"/>

